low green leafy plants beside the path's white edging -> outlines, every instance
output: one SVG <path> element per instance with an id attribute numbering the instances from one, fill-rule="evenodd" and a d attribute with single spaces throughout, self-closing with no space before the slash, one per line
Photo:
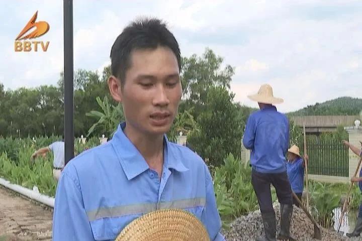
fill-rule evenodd
<path id="1" fill-rule="evenodd" d="M 35 140 L 27 139 L 0 139 L 0 177 L 12 183 L 32 189 L 37 186 L 40 193 L 54 196 L 56 182 L 53 179 L 53 154 L 30 160 L 31 155 L 39 148 L 48 146 L 59 137 L 40 137 Z M 91 138 L 85 145 L 74 142 L 74 151 L 81 153 L 85 148 L 92 148 L 99 144 L 98 138 Z"/>

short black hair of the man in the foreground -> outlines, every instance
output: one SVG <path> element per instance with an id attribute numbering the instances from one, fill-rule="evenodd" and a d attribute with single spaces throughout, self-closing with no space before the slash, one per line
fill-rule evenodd
<path id="1" fill-rule="evenodd" d="M 112 75 L 124 84 L 126 71 L 130 66 L 133 50 L 156 49 L 168 47 L 177 59 L 178 70 L 181 71 L 181 54 L 178 43 L 166 24 L 155 18 L 141 18 L 129 24 L 117 37 L 111 49 Z"/>

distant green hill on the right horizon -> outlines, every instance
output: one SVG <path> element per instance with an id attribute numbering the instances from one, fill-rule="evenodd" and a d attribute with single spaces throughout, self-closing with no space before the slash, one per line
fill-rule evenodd
<path id="1" fill-rule="evenodd" d="M 339 97 L 323 103 L 308 105 L 288 115 L 358 115 L 362 110 L 362 98 Z"/>

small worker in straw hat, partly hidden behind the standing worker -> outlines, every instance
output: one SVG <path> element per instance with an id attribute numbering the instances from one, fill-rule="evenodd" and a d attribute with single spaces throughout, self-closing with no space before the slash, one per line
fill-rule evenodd
<path id="1" fill-rule="evenodd" d="M 308 162 L 308 156 L 304 154 L 304 159 Z M 299 154 L 299 147 L 293 145 L 288 149 L 287 174 L 293 192 L 299 200 L 302 200 L 304 188 L 304 168 L 305 162 Z M 293 204 L 299 207 L 299 202 L 293 198 Z"/>

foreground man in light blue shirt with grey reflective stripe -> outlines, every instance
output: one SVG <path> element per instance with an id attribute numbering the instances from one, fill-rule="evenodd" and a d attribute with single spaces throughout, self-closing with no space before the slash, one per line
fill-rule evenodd
<path id="1" fill-rule="evenodd" d="M 165 208 L 190 211 L 210 240 L 224 240 L 208 167 L 165 136 L 182 96 L 176 39 L 160 20 L 132 22 L 114 42 L 111 62 L 108 85 L 125 122 L 111 141 L 64 168 L 53 240 L 114 240 L 132 220 Z"/>

